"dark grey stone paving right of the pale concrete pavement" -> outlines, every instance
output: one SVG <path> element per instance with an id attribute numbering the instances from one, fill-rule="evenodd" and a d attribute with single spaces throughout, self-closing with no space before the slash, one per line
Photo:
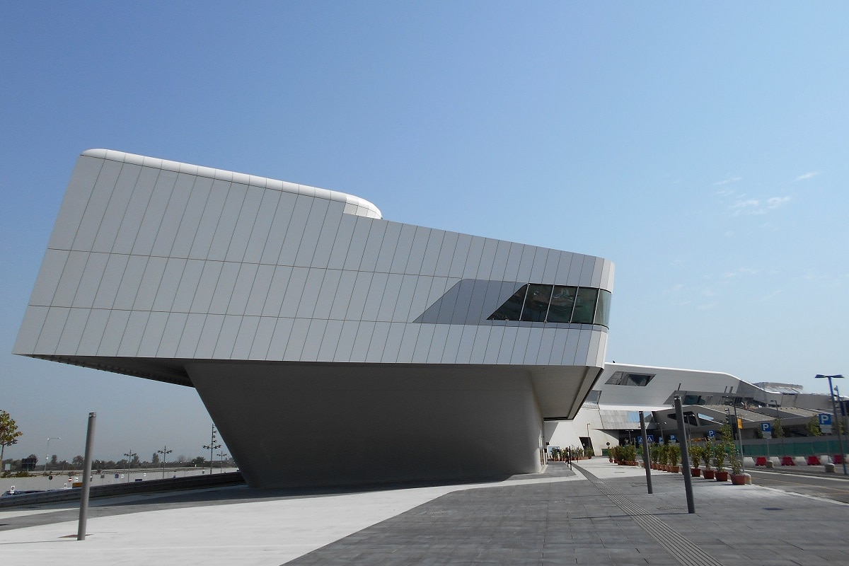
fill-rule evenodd
<path id="1" fill-rule="evenodd" d="M 599 462 L 582 469 L 594 478 L 589 470 L 598 471 Z M 387 566 L 849 562 L 849 506 L 694 479 L 696 513 L 689 514 L 681 475 L 653 474 L 652 495 L 644 477 L 606 475 L 595 484 L 455 491 L 287 564 L 354 556 Z"/>

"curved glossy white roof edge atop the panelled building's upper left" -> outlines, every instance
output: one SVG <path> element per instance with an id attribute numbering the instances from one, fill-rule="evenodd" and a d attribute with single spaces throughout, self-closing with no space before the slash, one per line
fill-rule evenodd
<path id="1" fill-rule="evenodd" d="M 127 154 L 123 151 L 115 151 L 115 149 L 87 149 L 82 152 L 81 155 L 85 155 L 86 157 L 97 157 L 102 160 L 155 167 L 156 169 L 162 169 L 165 171 L 188 173 L 189 175 L 197 175 L 199 177 L 210 177 L 212 179 L 219 179 L 222 181 L 239 182 L 245 185 L 270 188 L 273 190 L 284 191 L 286 193 L 304 194 L 317 199 L 328 199 L 335 202 L 345 203 L 346 214 L 366 216 L 368 218 L 383 217 L 383 215 L 380 214 L 380 209 L 368 202 L 368 200 L 355 197 L 352 194 L 340 193 L 339 191 L 329 191 L 326 188 L 310 187 L 309 185 L 301 185 L 295 182 L 278 181 L 278 179 L 257 177 L 256 175 L 248 175 L 247 173 L 225 171 L 223 169 L 214 169 L 212 167 L 204 167 L 202 165 L 191 165 L 188 163 L 181 163 L 179 161 L 162 160 L 157 157 Z"/>

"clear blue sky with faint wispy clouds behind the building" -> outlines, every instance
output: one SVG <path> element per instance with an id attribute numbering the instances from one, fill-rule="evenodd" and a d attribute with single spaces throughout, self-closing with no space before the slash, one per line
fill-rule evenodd
<path id="1" fill-rule="evenodd" d="M 13 457 L 168 445 L 194 389 L 12 356 L 76 156 L 356 194 L 616 263 L 606 359 L 849 376 L 849 4 L 0 6 L 0 408 Z M 849 392 L 849 384 L 846 384 Z"/>

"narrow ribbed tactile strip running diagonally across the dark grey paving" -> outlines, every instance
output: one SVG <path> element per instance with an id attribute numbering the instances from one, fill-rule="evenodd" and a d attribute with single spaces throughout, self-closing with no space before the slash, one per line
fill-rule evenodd
<path id="1" fill-rule="evenodd" d="M 605 484 L 601 479 L 590 474 L 584 468 L 575 464 L 572 465 L 590 483 L 598 488 L 599 491 L 607 496 L 610 501 L 616 503 L 622 511 L 633 517 L 638 525 L 643 527 L 655 541 L 658 541 L 666 549 L 666 552 L 669 552 L 683 566 L 722 566 L 722 563 L 718 562 L 716 558 L 711 557 L 710 554 L 703 551 L 699 546 L 695 546 L 693 542 L 678 534 L 676 530 L 673 530 L 672 527 L 661 521 L 661 519 L 655 517 L 643 507 L 631 502 L 626 496 L 623 496 L 619 491 Z"/>

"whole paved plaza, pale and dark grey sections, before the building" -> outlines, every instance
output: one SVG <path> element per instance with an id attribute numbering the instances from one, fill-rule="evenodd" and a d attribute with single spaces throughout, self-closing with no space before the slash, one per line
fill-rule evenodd
<path id="1" fill-rule="evenodd" d="M 265 492 L 227 487 L 0 513 L 3 563 L 849 563 L 849 505 L 603 458 L 474 485 Z M 841 484 L 842 485 L 842 484 Z"/>

